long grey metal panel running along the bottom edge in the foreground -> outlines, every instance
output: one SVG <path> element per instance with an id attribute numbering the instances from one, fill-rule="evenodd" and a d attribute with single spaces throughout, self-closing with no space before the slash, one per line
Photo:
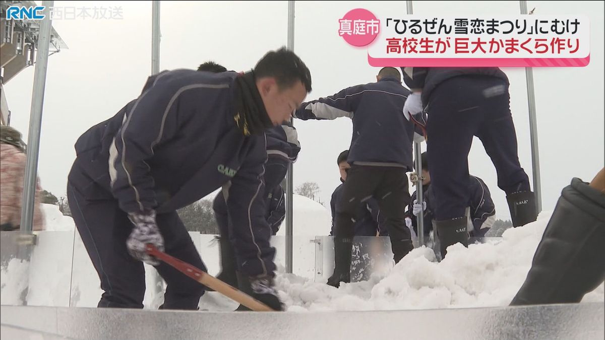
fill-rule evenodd
<path id="1" fill-rule="evenodd" d="M 602 303 L 324 313 L 2 306 L 0 315 L 5 327 L 68 338 L 145 340 L 603 339 L 605 317 Z"/>

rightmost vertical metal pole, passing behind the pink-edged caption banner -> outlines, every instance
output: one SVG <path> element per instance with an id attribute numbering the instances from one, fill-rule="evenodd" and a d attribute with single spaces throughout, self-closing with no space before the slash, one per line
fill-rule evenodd
<path id="1" fill-rule="evenodd" d="M 521 14 L 528 14 L 528 2 L 520 0 Z M 528 87 L 529 135 L 531 136 L 531 163 L 534 174 L 535 207 L 538 214 L 542 211 L 542 191 L 540 185 L 540 153 L 538 152 L 538 121 L 535 116 L 534 69 L 525 68 L 525 79 Z"/>

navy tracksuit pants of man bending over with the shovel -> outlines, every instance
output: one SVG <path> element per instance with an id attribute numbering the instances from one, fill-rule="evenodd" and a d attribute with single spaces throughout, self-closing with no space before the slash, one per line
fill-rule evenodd
<path id="1" fill-rule="evenodd" d="M 69 175 L 67 197 L 104 291 L 98 307 L 143 308 L 145 269 L 143 263 L 126 250 L 126 239 L 133 227 L 126 212 L 119 208 L 111 192 L 95 183 L 77 165 Z M 157 225 L 166 253 L 206 271 L 177 212 L 158 214 Z M 201 284 L 163 262 L 155 269 L 168 284 L 163 309 L 197 309 L 204 293 Z"/>

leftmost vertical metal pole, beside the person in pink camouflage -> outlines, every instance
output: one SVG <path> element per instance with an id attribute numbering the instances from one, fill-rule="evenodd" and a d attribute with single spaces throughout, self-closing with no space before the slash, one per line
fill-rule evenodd
<path id="1" fill-rule="evenodd" d="M 42 106 L 44 106 L 44 88 L 48 67 L 48 47 L 50 45 L 51 19 L 50 8 L 54 1 L 42 1 L 44 19 L 38 36 L 38 57 L 34 70 L 34 87 L 31 93 L 30 129 L 27 137 L 27 160 L 21 206 L 21 233 L 31 234 L 34 217 L 34 198 L 36 197 L 36 178 L 38 177 L 38 152 L 40 150 L 40 131 L 42 129 Z"/>

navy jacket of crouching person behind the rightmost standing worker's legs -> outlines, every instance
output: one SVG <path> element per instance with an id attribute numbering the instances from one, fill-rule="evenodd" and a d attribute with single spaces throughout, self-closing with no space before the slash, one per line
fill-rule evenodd
<path id="1" fill-rule="evenodd" d="M 485 182 L 476 176 L 469 176 L 469 191 L 470 197 L 468 201 L 468 207 L 470 209 L 470 218 L 473 222 L 473 235 L 477 234 L 477 230 L 482 230 L 481 226 L 483 223 L 491 217 L 495 215 L 495 206 L 494 201 L 491 199 L 491 194 L 489 193 L 488 186 Z M 427 209 L 424 211 L 424 234 L 428 235 L 431 230 L 433 230 L 433 218 L 434 218 L 434 194 L 431 188 L 431 185 L 422 186 L 422 192 L 424 192 L 424 200 L 427 202 Z M 414 226 L 414 231 L 417 233 L 417 218 L 412 213 L 414 200 L 416 200 L 416 191 L 411 195 L 410 205 L 408 206 L 408 211 L 410 212 L 410 217 L 412 220 L 412 225 Z M 487 230 L 482 230 L 480 234 L 485 234 Z M 473 236 L 471 235 L 471 236 Z"/>

